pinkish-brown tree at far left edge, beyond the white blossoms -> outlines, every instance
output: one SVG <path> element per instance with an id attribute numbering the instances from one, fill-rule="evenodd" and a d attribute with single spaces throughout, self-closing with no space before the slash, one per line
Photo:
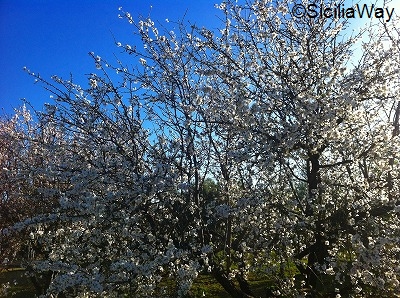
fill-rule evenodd
<path id="1" fill-rule="evenodd" d="M 30 142 L 28 137 L 34 131 L 37 132 L 36 143 Z M 40 170 L 56 163 L 51 154 L 42 150 L 43 144 L 50 140 L 54 142 L 55 137 L 54 131 L 36 125 L 25 105 L 11 119 L 1 120 L 2 268 L 24 267 L 30 271 L 33 262 L 49 256 L 49 249 L 40 236 L 54 227 L 29 223 L 34 223 L 37 215 L 53 213 L 59 203 L 59 192 L 68 187 Z M 43 294 L 50 283 L 51 272 L 41 272 L 40 278 L 34 272 L 30 273 L 29 279 L 37 294 Z"/>

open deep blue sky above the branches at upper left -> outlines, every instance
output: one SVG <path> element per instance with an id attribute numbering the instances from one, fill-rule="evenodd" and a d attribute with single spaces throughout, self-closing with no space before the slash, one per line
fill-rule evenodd
<path id="1" fill-rule="evenodd" d="M 215 0 L 0 0 L 0 115 L 11 114 L 26 98 L 36 109 L 51 102 L 49 93 L 22 69 L 26 66 L 42 77 L 72 73 L 86 84 L 85 74 L 95 71 L 96 55 L 115 62 L 121 49 L 117 40 L 128 42 L 133 27 L 118 18 L 118 7 L 156 21 L 185 19 L 199 25 L 218 24 Z M 151 8 L 152 7 L 152 8 Z M 114 60 L 113 60 L 114 59 Z"/>

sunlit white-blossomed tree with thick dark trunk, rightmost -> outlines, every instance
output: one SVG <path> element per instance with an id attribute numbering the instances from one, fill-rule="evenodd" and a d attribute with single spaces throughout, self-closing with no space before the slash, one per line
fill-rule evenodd
<path id="1" fill-rule="evenodd" d="M 265 211 L 277 214 L 270 233 L 279 237 L 260 265 L 276 254 L 295 263 L 312 295 L 326 289 L 368 295 L 369 287 L 394 293 L 397 32 L 369 28 L 364 54 L 352 66 L 363 32 L 345 38 L 346 22 L 293 19 L 286 2 L 219 7 L 226 27 L 219 36 L 200 31 L 199 47 L 212 58 L 198 60 L 219 90 L 209 111 L 243 136 L 239 156 L 258 158 L 266 177 Z M 294 279 L 279 278 L 296 287 Z"/>

